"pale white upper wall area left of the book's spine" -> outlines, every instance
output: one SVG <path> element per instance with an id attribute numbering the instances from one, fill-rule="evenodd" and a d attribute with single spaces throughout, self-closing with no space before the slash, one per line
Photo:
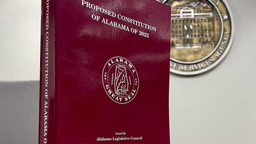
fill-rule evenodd
<path id="1" fill-rule="evenodd" d="M 0 81 L 39 79 L 41 0 L 0 0 Z"/>

